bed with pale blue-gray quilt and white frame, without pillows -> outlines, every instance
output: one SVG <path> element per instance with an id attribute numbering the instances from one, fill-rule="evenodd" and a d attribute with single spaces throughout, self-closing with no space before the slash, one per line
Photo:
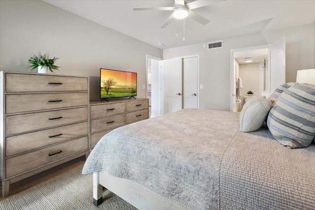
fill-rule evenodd
<path id="1" fill-rule="evenodd" d="M 140 210 L 315 209 L 315 144 L 290 150 L 240 114 L 184 109 L 103 136 L 83 174 Z M 313 126 L 313 125 L 312 125 Z"/>

